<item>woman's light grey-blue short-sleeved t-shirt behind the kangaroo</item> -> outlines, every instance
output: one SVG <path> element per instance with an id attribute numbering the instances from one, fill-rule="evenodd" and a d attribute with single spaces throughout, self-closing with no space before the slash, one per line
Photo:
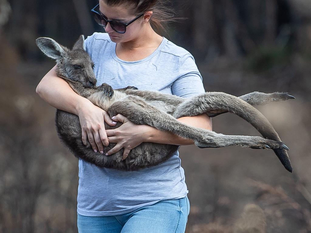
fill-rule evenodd
<path id="1" fill-rule="evenodd" d="M 135 86 L 181 97 L 205 92 L 193 56 L 166 38 L 150 56 L 134 62 L 119 59 L 115 47 L 106 33 L 94 33 L 85 40 L 95 63 L 97 85 Z M 123 214 L 187 193 L 178 151 L 160 165 L 139 171 L 100 168 L 79 160 L 77 212 L 81 215 Z"/>

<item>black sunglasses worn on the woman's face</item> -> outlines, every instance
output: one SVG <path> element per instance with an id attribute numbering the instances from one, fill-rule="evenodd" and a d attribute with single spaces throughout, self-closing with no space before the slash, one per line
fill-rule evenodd
<path id="1" fill-rule="evenodd" d="M 98 7 L 99 4 L 97 4 L 92 10 L 92 15 L 95 19 L 95 21 L 102 27 L 106 27 L 107 23 L 110 23 L 111 28 L 120 34 L 124 34 L 126 32 L 126 27 L 128 25 L 130 25 L 132 22 L 134 22 L 135 20 L 137 20 L 139 17 L 143 16 L 144 13 L 140 14 L 139 16 L 137 16 L 135 19 L 132 19 L 131 21 L 129 21 L 128 23 L 123 23 L 121 21 L 118 20 L 108 20 L 106 19 L 106 16 L 104 16 L 103 14 L 101 14 L 100 12 L 95 11 L 95 8 Z"/>

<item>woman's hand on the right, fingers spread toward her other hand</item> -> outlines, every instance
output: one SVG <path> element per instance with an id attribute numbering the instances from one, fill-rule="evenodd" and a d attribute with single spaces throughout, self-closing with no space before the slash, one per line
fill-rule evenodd
<path id="1" fill-rule="evenodd" d="M 114 148 L 110 149 L 106 155 L 111 155 L 124 148 L 123 160 L 128 157 L 131 149 L 137 147 L 142 142 L 145 142 L 150 130 L 153 128 L 148 125 L 135 125 L 121 114 L 111 117 L 114 121 L 120 121 L 123 124 L 114 129 L 106 130 L 108 141 L 117 143 Z"/>

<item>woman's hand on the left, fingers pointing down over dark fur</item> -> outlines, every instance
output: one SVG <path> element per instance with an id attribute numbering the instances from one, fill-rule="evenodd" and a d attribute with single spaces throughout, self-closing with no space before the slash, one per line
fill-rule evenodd
<path id="1" fill-rule="evenodd" d="M 82 129 L 83 144 L 87 145 L 88 139 L 95 153 L 97 151 L 104 153 L 104 146 L 109 145 L 104 121 L 110 126 L 115 126 L 117 122 L 114 122 L 106 111 L 90 101 L 86 101 L 81 105 L 78 116 Z"/>

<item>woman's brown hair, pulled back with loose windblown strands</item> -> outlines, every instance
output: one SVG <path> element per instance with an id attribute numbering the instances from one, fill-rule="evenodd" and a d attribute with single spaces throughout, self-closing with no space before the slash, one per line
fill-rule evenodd
<path id="1" fill-rule="evenodd" d="M 175 22 L 175 11 L 169 0 L 103 0 L 109 6 L 126 5 L 132 7 L 134 15 L 153 11 L 150 24 L 156 31 L 166 31 L 169 22 Z"/>

